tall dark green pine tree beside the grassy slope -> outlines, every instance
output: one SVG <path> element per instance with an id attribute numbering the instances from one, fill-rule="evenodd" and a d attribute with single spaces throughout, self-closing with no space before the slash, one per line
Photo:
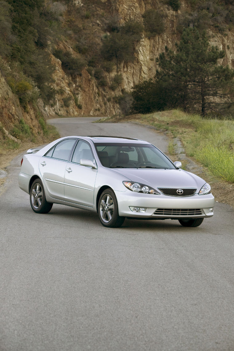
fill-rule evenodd
<path id="1" fill-rule="evenodd" d="M 156 85 L 164 82 L 168 102 L 205 115 L 232 101 L 234 70 L 218 65 L 224 52 L 209 44 L 205 32 L 186 28 L 176 52 L 165 48 L 158 58 Z"/>

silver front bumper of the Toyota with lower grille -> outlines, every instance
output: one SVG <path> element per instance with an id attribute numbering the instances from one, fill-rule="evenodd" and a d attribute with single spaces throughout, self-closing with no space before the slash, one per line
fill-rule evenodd
<path id="1" fill-rule="evenodd" d="M 131 191 L 115 192 L 119 216 L 151 219 L 204 218 L 214 215 L 214 196 L 212 194 L 186 197 L 166 196 L 164 194 L 142 194 Z M 146 208 L 145 213 L 132 212 L 130 207 Z"/>

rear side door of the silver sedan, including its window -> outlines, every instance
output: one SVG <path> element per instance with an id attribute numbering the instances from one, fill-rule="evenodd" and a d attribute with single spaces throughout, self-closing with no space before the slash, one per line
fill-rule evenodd
<path id="1" fill-rule="evenodd" d="M 64 200 L 64 174 L 77 139 L 64 139 L 39 161 L 39 170 L 49 195 Z"/>

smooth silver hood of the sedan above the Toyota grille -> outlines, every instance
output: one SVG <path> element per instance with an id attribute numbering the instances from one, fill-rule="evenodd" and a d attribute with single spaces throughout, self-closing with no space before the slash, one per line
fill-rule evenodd
<path id="1" fill-rule="evenodd" d="M 143 183 L 153 188 L 197 188 L 200 191 L 205 181 L 193 173 L 177 169 L 121 168 L 115 172 L 126 180 Z"/>

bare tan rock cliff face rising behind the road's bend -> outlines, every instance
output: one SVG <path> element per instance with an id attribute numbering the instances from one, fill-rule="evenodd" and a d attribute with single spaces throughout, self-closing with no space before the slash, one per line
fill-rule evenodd
<path id="1" fill-rule="evenodd" d="M 156 58 L 159 53 L 165 48 L 173 47 L 179 36 L 176 33 L 176 17 L 175 13 L 169 6 L 159 3 L 159 1 L 143 1 L 143 0 L 102 0 L 108 7 L 109 14 L 119 19 L 120 25 L 123 25 L 128 20 L 138 20 L 143 23 L 142 15 L 146 9 L 156 8 L 166 11 L 165 15 L 165 33 L 148 39 L 144 33 L 142 39 L 136 46 L 135 61 L 133 63 L 122 62 L 111 73 L 105 72 L 107 86 L 100 88 L 98 82 L 89 75 L 86 68 L 83 69 L 81 77 L 78 77 L 76 82 L 73 82 L 71 87 L 70 78 L 64 73 L 61 67 L 61 61 L 52 58 L 52 63 L 56 66 L 54 73 L 55 84 L 54 88 L 59 90 L 62 88 L 66 92 L 66 96 L 72 98 L 72 91 L 76 91 L 78 104 L 75 105 L 74 99 L 71 99 L 69 107 L 63 107 L 62 97 L 56 96 L 56 105 L 53 107 L 46 106 L 42 113 L 45 115 L 62 114 L 62 115 L 112 115 L 119 113 L 119 105 L 116 104 L 113 97 L 121 95 L 122 91 L 130 92 L 135 84 L 145 79 L 154 77 L 156 73 Z M 81 1 L 74 1 L 74 6 L 82 6 Z M 93 32 L 101 38 L 105 32 L 100 31 L 99 21 L 93 22 Z M 72 48 L 69 47 L 72 52 Z M 73 55 L 76 53 L 73 51 Z M 121 85 L 113 92 L 108 86 L 115 74 L 122 75 Z"/>

